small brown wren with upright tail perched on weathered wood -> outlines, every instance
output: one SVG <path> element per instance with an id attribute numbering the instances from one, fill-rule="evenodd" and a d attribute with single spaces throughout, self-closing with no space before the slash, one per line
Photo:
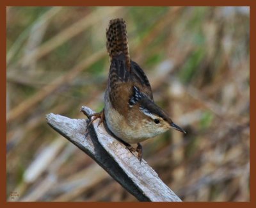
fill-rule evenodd
<path id="1" fill-rule="evenodd" d="M 110 20 L 106 36 L 111 65 L 104 96 L 105 106 L 100 113 L 92 115 L 94 117 L 90 124 L 100 118 L 108 131 L 128 143 L 129 150 L 138 152 L 138 159 L 141 161 L 141 141 L 171 128 L 186 132 L 154 103 L 147 76 L 130 59 L 125 21 Z M 137 143 L 138 147 L 133 148 L 129 145 L 132 143 Z"/>

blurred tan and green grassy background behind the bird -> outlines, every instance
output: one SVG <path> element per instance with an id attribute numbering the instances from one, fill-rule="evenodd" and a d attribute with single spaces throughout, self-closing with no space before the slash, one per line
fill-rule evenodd
<path id="1" fill-rule="evenodd" d="M 143 142 L 144 159 L 184 201 L 250 200 L 248 7 L 6 10 L 7 200 L 137 201 L 45 122 L 103 108 L 116 17 L 157 104 L 188 131 Z"/>

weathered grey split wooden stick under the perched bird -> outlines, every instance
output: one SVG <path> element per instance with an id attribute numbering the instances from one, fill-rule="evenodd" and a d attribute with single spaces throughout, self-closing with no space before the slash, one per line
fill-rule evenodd
<path id="1" fill-rule="evenodd" d="M 87 115 L 92 109 L 82 107 Z M 159 179 L 157 173 L 142 159 L 141 163 L 125 145 L 110 136 L 99 120 L 86 127 L 88 119 L 71 119 L 50 113 L 47 123 L 94 159 L 106 172 L 140 201 L 181 202 L 180 198 Z"/>

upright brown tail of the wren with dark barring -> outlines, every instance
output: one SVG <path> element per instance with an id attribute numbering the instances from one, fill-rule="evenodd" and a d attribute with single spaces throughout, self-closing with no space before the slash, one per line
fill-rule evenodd
<path id="1" fill-rule="evenodd" d="M 115 56 L 123 53 L 125 55 L 125 63 L 127 65 L 127 68 L 130 70 L 131 61 L 129 55 L 128 37 L 125 21 L 123 19 L 110 20 L 106 36 L 106 46 L 111 60 Z"/>

